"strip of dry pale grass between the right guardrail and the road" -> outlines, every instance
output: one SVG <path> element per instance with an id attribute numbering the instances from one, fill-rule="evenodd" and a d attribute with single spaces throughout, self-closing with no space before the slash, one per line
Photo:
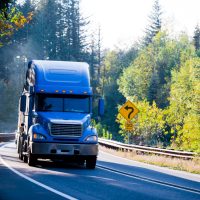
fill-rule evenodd
<path id="1" fill-rule="evenodd" d="M 200 174 L 200 159 L 190 159 L 184 160 L 179 158 L 171 158 L 166 156 L 158 156 L 158 155 L 147 155 L 147 154 L 136 154 L 136 152 L 127 152 L 127 151 L 119 151 L 110 149 L 107 147 L 99 146 L 99 149 L 119 156 L 123 158 L 127 158 L 134 161 L 144 162 L 148 164 L 153 164 L 161 167 L 168 167 L 175 170 L 186 171 L 194 174 Z"/>

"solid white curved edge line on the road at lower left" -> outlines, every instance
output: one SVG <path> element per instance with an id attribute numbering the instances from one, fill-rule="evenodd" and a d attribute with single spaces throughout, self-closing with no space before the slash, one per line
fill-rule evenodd
<path id="1" fill-rule="evenodd" d="M 38 181 L 36 181 L 36 180 L 34 180 L 34 179 L 32 179 L 32 178 L 30 178 L 30 177 L 28 177 L 28 176 L 22 174 L 21 172 L 18 172 L 17 170 L 15 170 L 14 168 L 12 168 L 8 163 L 6 163 L 6 162 L 3 160 L 3 158 L 2 158 L 1 156 L 0 156 L 0 160 L 1 160 L 1 162 L 2 162 L 7 168 L 9 168 L 9 169 L 10 169 L 11 171 L 13 171 L 15 174 L 17 174 L 17 175 L 21 176 L 22 178 L 24 178 L 24 179 L 30 181 L 31 183 L 34 183 L 34 184 L 36 184 L 36 185 L 38 185 L 38 186 L 40 186 L 40 187 L 42 187 L 42 188 L 45 188 L 46 190 L 49 190 L 50 192 L 53 192 L 53 193 L 55 193 L 55 194 L 57 194 L 57 195 L 59 195 L 59 196 L 61 196 L 61 197 L 66 198 L 66 199 L 69 199 L 69 200 L 78 200 L 78 199 L 76 199 L 76 198 L 74 198 L 74 197 L 72 197 L 72 196 L 70 196 L 70 195 L 67 195 L 67 194 L 65 194 L 65 193 L 62 193 L 62 192 L 60 192 L 60 191 L 58 191 L 58 190 L 55 190 L 55 189 L 53 189 L 53 188 L 51 188 L 51 187 L 49 187 L 49 186 L 47 186 L 47 185 L 45 185 L 45 184 L 43 184 L 43 183 L 40 183 L 40 182 L 38 182 Z"/>

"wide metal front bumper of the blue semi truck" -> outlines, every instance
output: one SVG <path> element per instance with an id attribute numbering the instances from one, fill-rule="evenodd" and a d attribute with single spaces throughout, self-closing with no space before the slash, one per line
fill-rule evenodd
<path id="1" fill-rule="evenodd" d="M 98 144 L 60 144 L 31 142 L 31 153 L 43 156 L 97 156 Z"/>

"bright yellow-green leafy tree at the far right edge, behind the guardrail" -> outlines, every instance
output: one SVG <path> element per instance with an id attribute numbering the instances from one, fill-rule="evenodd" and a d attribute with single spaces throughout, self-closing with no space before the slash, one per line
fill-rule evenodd
<path id="1" fill-rule="evenodd" d="M 173 144 L 200 152 L 200 59 L 186 61 L 172 73 L 168 123 Z"/>

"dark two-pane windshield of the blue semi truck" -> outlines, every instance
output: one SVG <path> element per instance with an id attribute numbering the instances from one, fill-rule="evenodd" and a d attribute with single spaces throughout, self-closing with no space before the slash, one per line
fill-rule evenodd
<path id="1" fill-rule="evenodd" d="M 48 112 L 90 112 L 90 97 L 83 95 L 38 94 L 36 110 Z"/>

